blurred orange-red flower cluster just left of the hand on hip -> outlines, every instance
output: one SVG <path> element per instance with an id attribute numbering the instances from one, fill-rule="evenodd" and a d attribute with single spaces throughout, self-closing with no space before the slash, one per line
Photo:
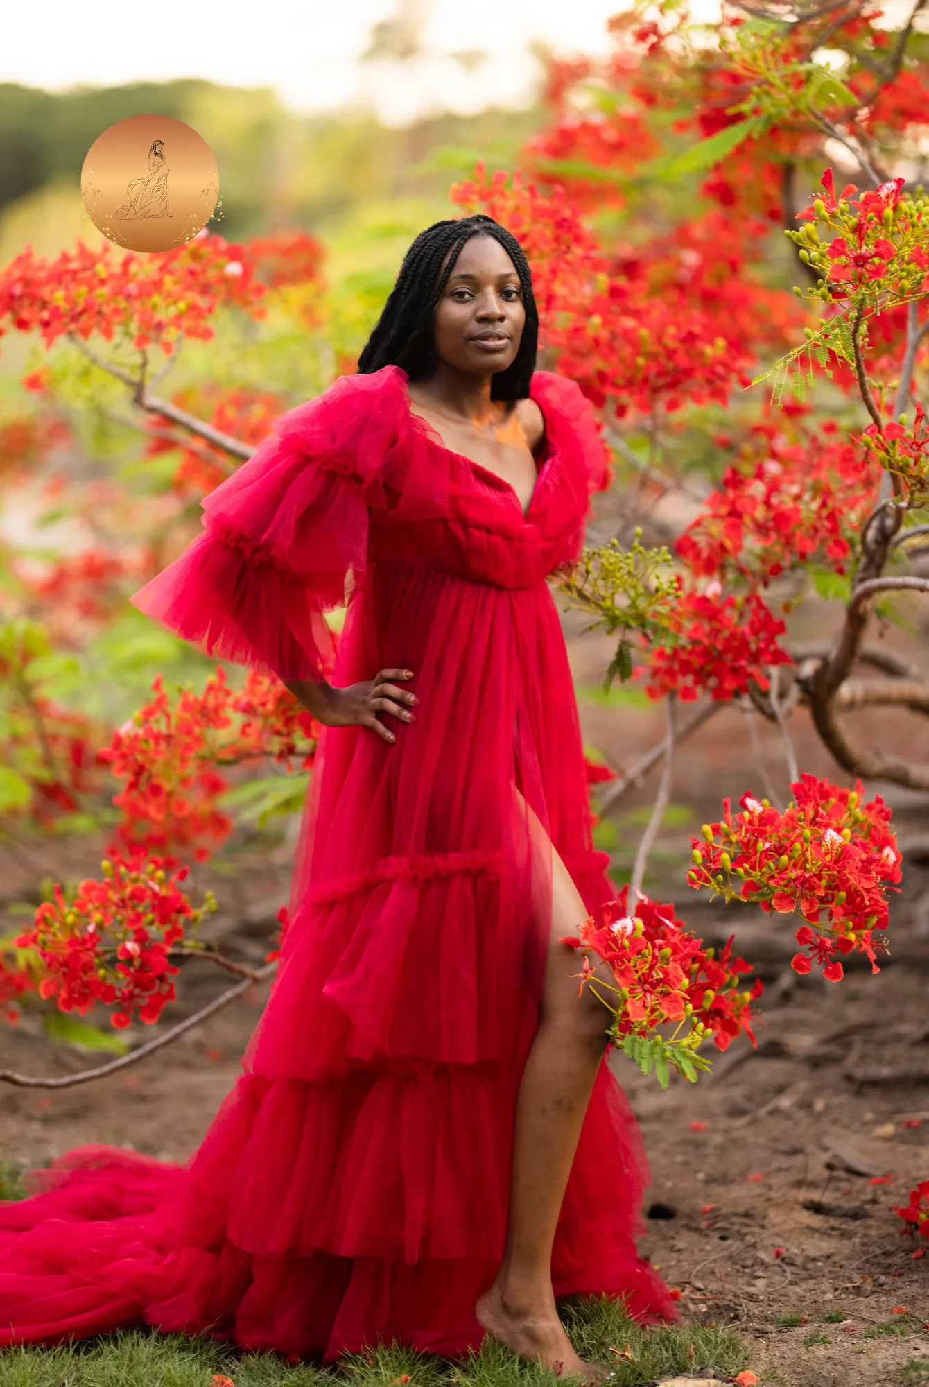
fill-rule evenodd
<path id="1" fill-rule="evenodd" d="M 121 727 L 101 753 L 126 788 L 114 796 L 123 811 L 114 850 L 158 852 L 169 865 L 176 850 L 202 861 L 222 842 L 232 820 L 218 807 L 229 789 L 218 766 L 270 756 L 312 760 L 318 728 L 283 684 L 250 671 L 240 694 L 218 667 L 202 694 L 182 691 L 172 707 L 161 675 L 154 698 Z M 305 742 L 298 746 L 298 739 Z"/>

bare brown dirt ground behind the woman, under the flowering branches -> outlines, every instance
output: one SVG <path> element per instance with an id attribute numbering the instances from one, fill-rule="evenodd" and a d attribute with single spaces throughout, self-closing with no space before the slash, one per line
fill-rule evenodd
<path id="1" fill-rule="evenodd" d="M 580 688 L 595 684 L 605 648 L 587 637 L 571 639 L 570 649 Z M 649 709 L 582 698 L 581 713 L 587 741 L 621 766 L 661 732 Z M 796 724 L 801 764 L 844 781 L 801 716 Z M 875 739 L 894 735 L 860 727 Z M 783 791 L 776 730 L 760 732 Z M 914 756 L 929 755 L 918 723 L 901 724 L 897 735 Z M 724 795 L 738 799 L 749 788 L 761 792 L 746 717 L 727 709 L 681 748 L 672 796 L 681 809 L 659 839 L 648 885 L 656 899 L 675 900 L 703 938 L 735 932 L 765 982 L 758 1047 L 739 1043 L 717 1060 L 711 1078 L 697 1086 L 672 1080 L 667 1092 L 617 1057 L 652 1166 L 642 1248 L 679 1287 L 685 1318 L 736 1326 L 753 1341 L 752 1366 L 763 1383 L 892 1387 L 912 1361 L 925 1363 L 928 1376 L 912 1376 L 919 1370 L 911 1368 L 910 1380 L 929 1381 L 929 1250 L 914 1257 L 915 1243 L 889 1208 L 929 1178 L 929 853 L 907 863 L 892 911 L 893 956 L 878 976 L 865 968 L 849 971 L 840 985 L 799 979 L 789 970 L 796 946 L 783 920 L 710 906 L 684 881 L 691 832 L 718 817 Z M 652 789 L 646 782 L 616 820 L 620 867 Z M 929 796 L 869 789 L 894 806 L 903 839 L 926 834 Z M 600 832 L 610 838 L 610 829 Z M 28 900 L 43 874 L 76 878 L 94 870 L 93 847 L 75 853 L 64 843 L 44 849 L 40 861 L 4 852 L 0 896 Z M 232 954 L 263 957 L 287 877 L 287 847 L 255 842 L 238 845 L 222 872 L 197 871 L 197 888 L 218 893 L 220 914 L 211 928 Z M 172 1019 L 226 986 L 207 964 L 186 965 Z M 128 1074 L 57 1093 L 1 1089 L 0 1162 L 22 1169 L 89 1142 L 186 1158 L 238 1074 L 265 994 L 255 988 Z M 35 1018 L 0 1031 L 0 1049 L 4 1067 L 32 1074 L 96 1062 L 53 1049 Z"/>

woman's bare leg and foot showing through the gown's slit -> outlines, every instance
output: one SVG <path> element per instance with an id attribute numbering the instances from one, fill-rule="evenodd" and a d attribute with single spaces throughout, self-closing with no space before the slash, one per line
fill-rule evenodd
<path id="1" fill-rule="evenodd" d="M 548 835 L 544 842 L 552 854 L 552 933 L 539 1029 L 516 1108 L 506 1252 L 476 1312 L 481 1327 L 514 1352 L 591 1381 L 600 1370 L 574 1352 L 555 1307 L 552 1243 L 610 1018 L 587 988 L 578 999 L 571 976 L 578 956 L 557 940 L 575 933 L 588 911 Z M 598 972 L 610 976 L 605 964 Z"/>

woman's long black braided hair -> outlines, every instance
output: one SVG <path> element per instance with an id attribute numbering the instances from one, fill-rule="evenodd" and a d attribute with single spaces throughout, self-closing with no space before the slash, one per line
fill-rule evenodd
<path id="1" fill-rule="evenodd" d="M 519 350 L 510 365 L 494 374 L 491 399 L 526 399 L 538 347 L 538 309 L 532 294 L 532 276 L 516 237 L 484 212 L 433 222 L 419 233 L 403 257 L 397 283 L 358 358 L 359 376 L 390 365 L 401 366 L 410 380 L 431 374 L 438 362 L 433 313 L 462 245 L 471 236 L 492 236 L 501 243 L 519 275 L 526 307 Z M 449 248 L 452 254 L 440 277 L 438 270 Z"/>

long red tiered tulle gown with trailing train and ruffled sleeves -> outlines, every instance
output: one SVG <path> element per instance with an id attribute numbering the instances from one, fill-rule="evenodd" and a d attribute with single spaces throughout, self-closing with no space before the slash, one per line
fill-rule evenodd
<path id="1" fill-rule="evenodd" d="M 548 835 L 588 908 L 613 895 L 545 581 L 580 552 L 605 452 L 573 381 L 538 370 L 531 394 L 546 442 L 526 515 L 384 366 L 286 413 L 136 595 L 200 648 L 284 680 L 406 667 L 417 721 L 388 720 L 394 745 L 323 731 L 280 972 L 191 1162 L 82 1147 L 0 1207 L 0 1341 L 143 1322 L 326 1361 L 379 1338 L 480 1343 L 550 933 Z M 347 595 L 333 669 L 322 612 Z M 605 1062 L 556 1295 L 674 1318 L 634 1243 L 646 1178 Z"/>

